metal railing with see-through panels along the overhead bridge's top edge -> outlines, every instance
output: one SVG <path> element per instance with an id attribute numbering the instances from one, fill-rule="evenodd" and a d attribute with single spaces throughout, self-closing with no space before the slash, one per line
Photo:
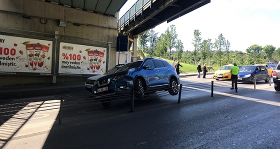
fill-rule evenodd
<path id="1" fill-rule="evenodd" d="M 137 0 L 125 13 L 122 15 L 117 22 L 118 30 L 125 24 L 129 23 L 130 20 L 135 19 L 139 14 L 142 14 L 143 10 L 147 6 L 151 6 L 155 0 Z"/>

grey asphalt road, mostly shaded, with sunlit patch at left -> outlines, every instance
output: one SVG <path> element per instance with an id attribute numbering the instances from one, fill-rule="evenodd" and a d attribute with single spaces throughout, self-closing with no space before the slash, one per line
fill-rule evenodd
<path id="1" fill-rule="evenodd" d="M 0 148 L 280 148 L 273 83 L 238 83 L 235 92 L 230 81 L 206 77 L 180 78 L 180 103 L 158 91 L 135 100 L 133 112 L 130 99 L 104 108 L 89 92 L 68 94 L 61 125 L 59 96 L 11 100 L 1 112 Z"/>

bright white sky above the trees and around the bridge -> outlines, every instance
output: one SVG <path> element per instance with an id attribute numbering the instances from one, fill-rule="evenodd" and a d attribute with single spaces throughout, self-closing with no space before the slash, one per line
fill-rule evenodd
<path id="1" fill-rule="evenodd" d="M 127 0 L 120 9 L 123 15 L 136 0 Z M 192 51 L 194 29 L 198 29 L 201 42 L 212 42 L 220 33 L 230 42 L 230 50 L 246 51 L 253 44 L 280 47 L 280 0 L 211 0 L 171 22 L 162 22 L 152 28 L 158 36 L 174 24 L 177 39 L 183 42 L 184 50 Z"/>

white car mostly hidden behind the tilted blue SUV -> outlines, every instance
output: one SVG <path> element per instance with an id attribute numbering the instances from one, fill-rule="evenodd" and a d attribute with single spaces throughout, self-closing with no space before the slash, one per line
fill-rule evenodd
<path id="1" fill-rule="evenodd" d="M 90 76 L 86 79 L 86 82 L 84 84 L 86 90 L 88 90 L 89 92 L 92 93 L 91 88 L 93 86 L 93 83 L 96 79 L 108 75 L 108 74 L 112 74 L 114 73 L 117 69 L 119 69 L 121 66 L 123 66 L 124 64 L 117 64 L 115 65 L 113 68 L 109 69 L 107 72 L 105 72 L 104 74 L 100 74 L 100 75 L 94 75 L 94 76 Z"/>

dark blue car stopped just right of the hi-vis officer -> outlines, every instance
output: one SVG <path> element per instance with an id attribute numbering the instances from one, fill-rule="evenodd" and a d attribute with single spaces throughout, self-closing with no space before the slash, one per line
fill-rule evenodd
<path id="1" fill-rule="evenodd" d="M 269 75 L 265 66 L 263 65 L 244 65 L 238 72 L 239 82 L 253 82 L 253 79 L 264 80 L 268 82 Z"/>

